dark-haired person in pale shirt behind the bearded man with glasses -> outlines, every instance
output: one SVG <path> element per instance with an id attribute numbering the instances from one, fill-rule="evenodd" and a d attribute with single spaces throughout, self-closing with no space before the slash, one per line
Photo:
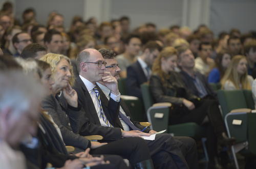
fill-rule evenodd
<path id="1" fill-rule="evenodd" d="M 136 62 L 141 48 L 141 40 L 138 35 L 130 35 L 124 40 L 125 51 L 116 56 L 121 69 L 120 76 L 126 78 L 126 68 Z"/>

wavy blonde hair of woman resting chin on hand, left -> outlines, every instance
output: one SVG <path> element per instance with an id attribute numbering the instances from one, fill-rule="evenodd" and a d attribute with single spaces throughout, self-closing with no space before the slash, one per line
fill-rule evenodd
<path id="1" fill-rule="evenodd" d="M 45 61 L 48 64 L 50 64 L 52 74 L 54 74 L 56 72 L 56 67 L 59 64 L 59 61 L 61 59 L 65 59 L 70 64 L 71 78 L 70 78 L 69 83 L 70 83 L 71 86 L 73 86 L 75 78 L 74 78 L 74 73 L 73 73 L 73 67 L 72 67 L 71 61 L 68 57 L 66 57 L 63 54 L 48 53 L 48 54 L 44 55 L 44 57 L 40 58 L 41 61 Z"/>

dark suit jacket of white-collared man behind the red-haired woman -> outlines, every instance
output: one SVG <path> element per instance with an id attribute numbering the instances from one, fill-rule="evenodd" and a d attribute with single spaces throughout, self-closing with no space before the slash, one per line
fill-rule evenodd
<path id="1" fill-rule="evenodd" d="M 140 85 L 147 81 L 146 75 L 137 61 L 127 67 L 127 78 L 125 80 L 127 94 L 142 99 Z"/>

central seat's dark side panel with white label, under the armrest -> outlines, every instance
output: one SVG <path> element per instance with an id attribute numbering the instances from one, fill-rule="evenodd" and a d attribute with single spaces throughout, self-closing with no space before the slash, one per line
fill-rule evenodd
<path id="1" fill-rule="evenodd" d="M 151 129 L 155 131 L 162 131 L 168 129 L 169 107 L 150 107 L 147 110 L 147 120 L 152 124 Z"/>

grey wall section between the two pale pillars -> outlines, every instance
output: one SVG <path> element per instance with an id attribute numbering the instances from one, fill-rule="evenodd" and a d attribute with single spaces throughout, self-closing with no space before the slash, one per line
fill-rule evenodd
<path id="1" fill-rule="evenodd" d="M 169 0 L 112 0 L 111 18 L 122 15 L 131 18 L 131 27 L 137 27 L 145 22 L 153 22 L 159 28 L 172 24 L 181 24 L 182 1 Z"/>

